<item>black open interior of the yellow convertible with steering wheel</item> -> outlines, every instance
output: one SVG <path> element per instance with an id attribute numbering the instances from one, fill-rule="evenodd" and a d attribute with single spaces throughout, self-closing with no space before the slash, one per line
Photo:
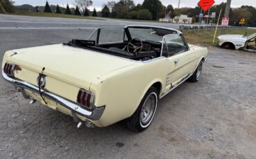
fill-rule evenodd
<path id="1" fill-rule="evenodd" d="M 100 29 L 100 28 L 98 28 Z M 158 31 L 158 30 L 157 30 Z M 172 30 L 171 30 L 172 31 Z M 174 32 L 174 31 L 172 31 Z M 116 55 L 119 57 L 125 57 L 128 59 L 134 59 L 138 61 L 147 61 L 149 59 L 154 59 L 156 57 L 161 57 L 162 51 L 162 41 L 153 41 L 148 39 L 138 39 L 131 38 L 129 30 L 125 29 L 125 35 L 122 41 L 119 42 L 102 42 L 99 43 L 100 31 L 95 30 L 95 39 L 82 40 L 82 39 L 72 39 L 67 44 L 68 46 L 79 47 L 89 50 L 95 50 L 100 53 L 106 53 L 109 55 Z M 170 32 L 157 32 L 158 35 L 162 37 Z M 151 32 L 151 35 L 156 34 L 156 31 Z M 126 37 L 126 38 L 125 38 Z M 107 36 L 109 38 L 109 36 Z M 166 47 L 166 46 L 165 46 Z M 168 44 L 167 52 L 170 54 L 179 53 L 185 50 L 184 46 L 178 44 Z M 168 53 L 166 53 L 168 56 Z"/>

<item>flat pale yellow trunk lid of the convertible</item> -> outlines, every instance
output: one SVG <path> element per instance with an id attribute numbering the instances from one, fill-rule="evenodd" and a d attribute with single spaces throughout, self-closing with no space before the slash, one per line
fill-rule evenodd
<path id="1" fill-rule="evenodd" d="M 10 61 L 37 73 L 45 68 L 44 75 L 69 84 L 89 88 L 94 79 L 135 64 L 135 62 L 92 50 L 63 46 L 39 46 L 13 50 Z"/>

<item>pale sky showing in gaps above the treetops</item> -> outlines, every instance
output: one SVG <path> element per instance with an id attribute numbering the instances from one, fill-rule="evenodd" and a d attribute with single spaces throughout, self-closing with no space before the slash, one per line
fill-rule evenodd
<path id="1" fill-rule="evenodd" d="M 32 6 L 44 6 L 46 3 L 46 0 L 13 0 L 15 1 L 16 5 L 21 5 L 21 4 L 30 4 Z M 75 0 L 48 0 L 49 4 L 59 4 L 60 6 L 64 6 L 66 8 L 66 3 L 70 4 L 73 6 Z M 111 1 L 111 0 L 109 0 Z M 118 1 L 118 0 L 116 0 Z M 143 3 L 144 0 L 134 0 L 134 3 Z M 219 4 L 222 2 L 226 2 L 226 0 L 214 0 L 215 4 Z M 231 6 L 233 8 L 243 6 L 243 5 L 248 5 L 248 6 L 254 6 L 256 7 L 256 0 L 232 0 L 231 1 Z M 107 0 L 93 0 L 93 5 L 89 8 L 92 10 L 93 8 L 96 8 L 96 10 L 100 11 L 102 8 L 102 5 L 106 3 Z M 169 4 L 172 4 L 174 8 L 178 7 L 179 0 L 161 0 L 163 5 L 167 6 Z M 197 5 L 199 0 L 181 0 L 180 7 L 194 7 Z"/>

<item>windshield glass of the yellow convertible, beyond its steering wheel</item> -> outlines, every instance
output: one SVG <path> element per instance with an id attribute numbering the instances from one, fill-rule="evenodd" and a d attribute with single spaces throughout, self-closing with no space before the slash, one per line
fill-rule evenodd
<path id="1" fill-rule="evenodd" d="M 128 28 L 132 39 L 162 42 L 163 36 L 177 33 L 163 28 Z"/>

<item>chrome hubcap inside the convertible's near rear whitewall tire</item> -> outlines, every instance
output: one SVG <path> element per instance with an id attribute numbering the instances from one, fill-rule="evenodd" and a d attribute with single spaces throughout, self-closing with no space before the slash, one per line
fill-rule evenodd
<path id="1" fill-rule="evenodd" d="M 147 96 L 143 104 L 143 108 L 140 112 L 140 121 L 141 124 L 148 124 L 154 115 L 154 111 L 156 109 L 156 96 L 152 93 Z"/>

